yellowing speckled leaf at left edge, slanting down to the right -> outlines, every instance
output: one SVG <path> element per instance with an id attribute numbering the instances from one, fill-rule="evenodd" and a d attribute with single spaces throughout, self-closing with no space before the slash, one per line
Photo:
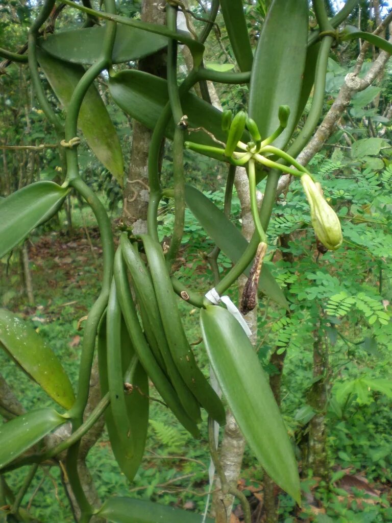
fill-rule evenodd
<path id="1" fill-rule="evenodd" d="M 75 396 L 60 360 L 36 331 L 0 309 L 0 347 L 59 405 L 71 408 Z"/>

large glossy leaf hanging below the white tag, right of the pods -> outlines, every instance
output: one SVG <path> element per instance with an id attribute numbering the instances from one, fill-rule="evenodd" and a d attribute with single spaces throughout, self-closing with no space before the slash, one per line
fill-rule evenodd
<path id="1" fill-rule="evenodd" d="M 298 503 L 298 468 L 267 374 L 235 317 L 220 306 L 200 311 L 207 354 L 236 421 L 262 467 Z"/>

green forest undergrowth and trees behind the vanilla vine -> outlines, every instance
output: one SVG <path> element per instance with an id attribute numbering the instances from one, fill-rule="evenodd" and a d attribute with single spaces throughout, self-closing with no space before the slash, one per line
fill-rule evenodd
<path id="1" fill-rule="evenodd" d="M 123 0 L 119 14 L 140 19 L 143 13 L 144 19 L 162 23 L 148 18 L 154 16 L 149 11 L 154 10 L 153 2 L 144 0 L 141 4 Z M 335 2 L 325 4 L 330 17 L 341 7 Z M 388 40 L 392 18 L 388 3 L 372 0 L 355 4 L 347 24 L 367 32 L 378 28 L 378 35 Z M 93 6 L 98 9 L 98 3 L 93 2 Z M 253 49 L 269 6 L 268 0 L 244 2 Z M 0 47 L 15 51 L 24 46 L 39 7 L 40 2 L 0 3 Z M 201 30 L 209 8 L 210 3 L 202 0 L 189 2 L 182 29 L 187 30 L 190 19 L 194 30 Z M 316 27 L 312 6 L 309 9 L 310 27 Z M 68 7 L 59 9 L 56 31 L 80 25 L 83 16 Z M 164 14 L 155 12 L 155 16 Z M 221 12 L 205 45 L 207 69 L 238 72 Z M 184 46 L 179 55 L 180 79 L 189 60 Z M 118 67 L 140 67 L 164 75 L 164 63 L 165 50 L 139 63 L 131 61 Z M 347 75 L 358 71 L 363 81 L 372 76 L 371 84 L 361 89 L 348 88 Z M 27 66 L 5 60 L 0 72 L 0 196 L 7 197 L 33 181 L 61 183 L 61 162 L 53 146 L 56 135 L 34 95 Z M 61 113 L 49 83 L 43 75 L 41 79 L 50 103 Z M 235 484 L 250 503 L 253 522 L 392 521 L 391 79 L 389 55 L 377 47 L 354 40 L 337 42 L 331 48 L 319 120 L 322 124 L 316 135 L 320 146 L 312 148 L 310 142 L 306 163 L 340 218 L 344 241 L 338 251 L 322 252 L 316 243 L 299 181 L 286 183 L 274 207 L 268 229 L 268 261 L 264 263 L 284 289 L 290 307 L 285 312 L 272 300 L 260 300 L 256 348 L 295 447 L 303 506 L 299 508 L 272 484 L 247 447 L 243 458 L 243 449 L 234 445 L 229 452 L 238 452 L 239 461 L 243 458 Z M 84 180 L 110 213 L 115 235 L 126 228 L 137 234 L 143 230 L 148 200 L 149 131 L 112 103 L 107 81 L 107 75 L 101 74 L 96 86 L 120 138 L 129 183 L 122 188 L 84 141 L 78 149 L 79 165 Z M 233 113 L 246 110 L 247 84 L 208 84 L 213 103 L 218 100 L 223 109 Z M 198 89 L 196 93 L 202 94 Z M 336 118 L 339 103 L 344 107 Z M 311 105 L 312 95 L 299 130 Z M 172 162 L 172 145 L 167 141 L 161 175 L 167 188 L 173 186 Z M 223 209 L 227 165 L 190 150 L 184 152 L 184 165 L 187 183 Z M 264 181 L 258 185 L 261 193 L 264 186 Z M 230 216 L 240 229 L 249 216 L 246 209 L 241 210 L 240 186 L 237 189 Z M 211 264 L 213 240 L 189 209 L 185 216 L 176 274 L 190 287 L 197 282 L 206 292 L 214 285 L 216 271 L 223 274 L 232 263 L 220 253 L 217 263 Z M 172 200 L 165 198 L 159 208 L 162 243 L 170 236 L 174 221 Z M 101 254 L 94 215 L 71 192 L 53 219 L 34 230 L 11 256 L 0 260 L 0 305 L 19 314 L 47 340 L 73 384 L 77 381 L 83 341 L 83 317 L 99 293 Z M 230 289 L 229 294 L 238 302 L 237 288 Z M 188 339 L 199 342 L 195 349 L 207 371 L 198 315 L 191 305 L 181 301 L 180 306 Z M 40 387 L 16 369 L 6 352 L 0 353 L 0 358 L 0 408 L 5 419 L 51 404 Z M 86 464 L 94 478 L 97 499 L 116 494 L 190 512 L 205 510 L 210 488 L 206 426 L 201 443 L 195 445 L 187 431 L 156 401 L 150 406 L 142 464 L 131 485 L 118 469 L 102 425 L 86 448 Z M 0 520 L 28 520 L 31 514 L 34 521 L 74 521 L 66 489 L 62 488 L 66 478 L 61 460 L 60 466 L 59 460 L 41 463 L 28 483 L 26 475 L 29 477 L 27 469 L 22 468 L 1 476 L 0 494 L 4 497 L 0 499 L 6 507 L 3 511 L 8 513 L 9 506 L 14 511 L 11 516 L 2 516 L 0 507 Z M 236 498 L 227 521 L 243 520 L 244 507 Z"/>

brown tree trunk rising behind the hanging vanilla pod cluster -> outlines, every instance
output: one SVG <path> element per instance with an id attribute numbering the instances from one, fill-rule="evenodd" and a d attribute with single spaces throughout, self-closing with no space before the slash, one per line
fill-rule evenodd
<path id="1" fill-rule="evenodd" d="M 144 0 L 142 20 L 152 24 L 165 24 L 166 15 L 155 0 Z M 139 70 L 156 76 L 166 76 L 166 51 L 159 51 L 140 60 Z M 131 161 L 124 188 L 122 220 L 132 228 L 133 234 L 147 232 L 148 208 L 148 149 L 152 131 L 136 120 L 132 121 Z"/>

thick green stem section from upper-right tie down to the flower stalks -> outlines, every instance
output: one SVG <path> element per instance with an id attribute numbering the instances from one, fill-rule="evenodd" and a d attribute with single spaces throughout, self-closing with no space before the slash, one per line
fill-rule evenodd
<path id="1" fill-rule="evenodd" d="M 316 129 L 321 116 L 322 106 L 324 105 L 328 56 L 332 43 L 333 38 L 330 36 L 326 36 L 322 39 L 320 52 L 317 58 L 312 106 L 310 107 L 304 127 L 287 150 L 287 154 L 290 154 L 291 156 L 297 156 L 304 149 Z"/>

